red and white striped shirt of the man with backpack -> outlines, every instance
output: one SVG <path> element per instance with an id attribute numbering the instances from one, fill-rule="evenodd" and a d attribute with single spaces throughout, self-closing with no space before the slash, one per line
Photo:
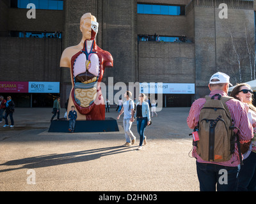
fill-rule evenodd
<path id="1" fill-rule="evenodd" d="M 221 90 L 211 91 L 209 96 L 214 96 L 214 94 L 221 94 L 221 96 L 227 96 L 227 93 Z M 187 118 L 189 128 L 194 129 L 197 126 L 199 121 L 200 110 L 203 108 L 205 101 L 205 98 L 200 98 L 192 104 Z M 239 131 L 237 133 L 237 135 L 239 135 L 239 140 L 242 142 L 250 141 L 253 138 L 253 128 L 252 125 L 250 124 L 243 103 L 241 103 L 241 101 L 238 101 L 237 99 L 230 99 L 226 102 L 226 105 L 230 112 L 231 118 L 234 120 L 234 126 L 239 128 Z M 200 156 L 198 156 L 196 152 L 196 147 L 193 147 L 192 156 L 195 157 L 199 163 L 219 164 L 222 166 L 238 166 L 240 163 L 237 143 L 235 145 L 235 152 L 231 159 L 228 161 L 204 161 Z"/>

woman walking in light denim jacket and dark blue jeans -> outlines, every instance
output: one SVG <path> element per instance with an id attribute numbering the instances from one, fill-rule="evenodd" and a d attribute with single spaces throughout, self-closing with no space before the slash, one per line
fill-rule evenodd
<path id="1" fill-rule="evenodd" d="M 139 95 L 140 102 L 136 105 L 136 112 L 134 114 L 134 118 L 137 120 L 137 131 L 140 135 L 140 144 L 138 147 L 138 150 L 142 149 L 142 143 L 144 142 L 144 145 L 147 143 L 147 138 L 144 135 L 145 128 L 149 126 L 150 124 L 150 110 L 149 105 L 146 101 L 145 94 Z"/>

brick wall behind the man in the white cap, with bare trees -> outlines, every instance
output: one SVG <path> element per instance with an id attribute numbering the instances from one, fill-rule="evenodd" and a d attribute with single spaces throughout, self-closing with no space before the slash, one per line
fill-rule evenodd
<path id="1" fill-rule="evenodd" d="M 196 98 L 208 91 L 209 78 L 217 71 L 230 75 L 232 84 L 239 82 L 238 62 L 234 45 L 241 61 L 242 81 L 250 78 L 249 55 L 246 55 L 246 36 L 248 47 L 254 52 L 254 11 L 250 2 L 224 1 L 228 6 L 228 18 L 219 18 L 218 2 L 193 1 L 195 12 L 195 75 Z M 197 4 L 198 3 L 198 4 Z M 205 5 L 207 4 L 207 6 Z M 231 40 L 231 34 L 234 43 Z M 246 34 L 245 34 L 246 33 Z"/>

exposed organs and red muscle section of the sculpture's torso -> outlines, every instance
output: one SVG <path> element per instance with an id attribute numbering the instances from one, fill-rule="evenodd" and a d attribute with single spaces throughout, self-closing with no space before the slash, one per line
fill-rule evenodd
<path id="1" fill-rule="evenodd" d="M 86 120 L 104 120 L 105 105 L 100 90 L 100 82 L 106 67 L 113 67 L 112 55 L 99 48 L 93 40 L 90 52 L 84 41 L 83 50 L 72 59 L 72 100 L 79 113 L 86 115 Z"/>

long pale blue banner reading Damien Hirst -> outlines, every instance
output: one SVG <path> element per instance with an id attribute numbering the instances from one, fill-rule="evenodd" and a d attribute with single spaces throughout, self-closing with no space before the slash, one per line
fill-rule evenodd
<path id="1" fill-rule="evenodd" d="M 195 84 L 140 83 L 144 94 L 195 94 Z"/>

